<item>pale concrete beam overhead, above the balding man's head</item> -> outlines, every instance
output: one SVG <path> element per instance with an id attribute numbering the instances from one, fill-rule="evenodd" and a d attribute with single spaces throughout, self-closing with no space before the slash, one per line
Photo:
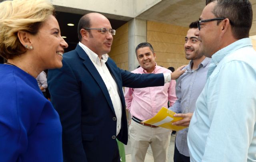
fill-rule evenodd
<path id="1" fill-rule="evenodd" d="M 48 0 L 56 10 L 75 14 L 100 12 L 117 20 L 129 21 L 162 0 Z"/>

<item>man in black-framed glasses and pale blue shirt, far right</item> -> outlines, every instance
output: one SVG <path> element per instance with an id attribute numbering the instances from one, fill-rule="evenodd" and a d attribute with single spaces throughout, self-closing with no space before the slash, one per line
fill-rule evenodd
<path id="1" fill-rule="evenodd" d="M 212 60 L 188 130 L 192 162 L 256 161 L 256 52 L 249 0 L 206 1 L 196 35 Z"/>

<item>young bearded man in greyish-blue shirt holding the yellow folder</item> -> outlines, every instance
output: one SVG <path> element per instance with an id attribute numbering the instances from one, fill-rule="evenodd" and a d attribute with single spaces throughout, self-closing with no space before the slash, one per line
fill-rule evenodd
<path id="1" fill-rule="evenodd" d="M 175 116 L 180 116 L 183 119 L 174 122 L 177 126 L 189 126 L 191 117 L 196 106 L 196 99 L 204 88 L 206 83 L 206 75 L 210 58 L 206 58 L 203 53 L 199 52 L 200 41 L 198 36 L 195 36 L 197 23 L 192 22 L 189 25 L 189 30 L 185 37 L 184 50 L 186 59 L 190 60 L 187 70 L 182 76 L 176 80 L 176 96 L 177 100 L 171 109 L 178 113 Z M 188 128 L 177 132 L 174 148 L 174 162 L 190 162 L 188 143 L 187 143 Z"/>

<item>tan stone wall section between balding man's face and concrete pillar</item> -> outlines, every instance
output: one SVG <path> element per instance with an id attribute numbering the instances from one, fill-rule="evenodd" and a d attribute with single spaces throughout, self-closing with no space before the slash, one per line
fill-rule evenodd
<path id="1" fill-rule="evenodd" d="M 108 55 L 119 68 L 128 70 L 128 22 L 116 30 L 116 35 L 113 38 Z"/>

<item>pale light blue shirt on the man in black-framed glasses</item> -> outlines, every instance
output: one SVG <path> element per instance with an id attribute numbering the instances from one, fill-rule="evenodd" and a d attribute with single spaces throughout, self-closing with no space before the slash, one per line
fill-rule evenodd
<path id="1" fill-rule="evenodd" d="M 250 38 L 212 55 L 188 130 L 191 162 L 256 161 L 256 52 Z"/>

